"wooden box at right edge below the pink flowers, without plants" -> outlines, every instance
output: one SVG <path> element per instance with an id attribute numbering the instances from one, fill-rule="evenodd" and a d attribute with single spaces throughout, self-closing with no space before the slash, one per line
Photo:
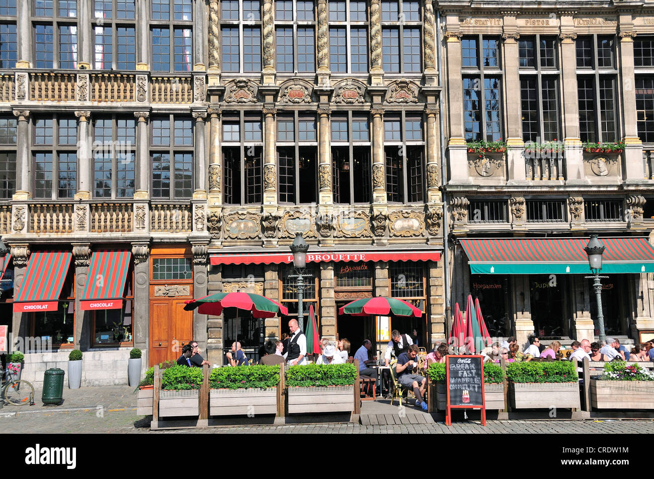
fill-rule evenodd
<path id="1" fill-rule="evenodd" d="M 591 379 L 593 409 L 654 409 L 654 382 Z"/>

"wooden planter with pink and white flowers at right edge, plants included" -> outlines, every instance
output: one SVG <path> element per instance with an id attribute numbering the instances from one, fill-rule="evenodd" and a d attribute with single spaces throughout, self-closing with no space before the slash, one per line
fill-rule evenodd
<path id="1" fill-rule="evenodd" d="M 654 372 L 637 363 L 604 363 L 602 376 L 591 378 L 595 409 L 654 409 Z"/>

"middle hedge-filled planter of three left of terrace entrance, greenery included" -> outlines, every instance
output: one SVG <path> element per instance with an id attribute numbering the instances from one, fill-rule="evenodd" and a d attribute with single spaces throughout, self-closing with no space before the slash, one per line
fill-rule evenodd
<path id="1" fill-rule="evenodd" d="M 209 376 L 209 415 L 277 414 L 279 365 L 221 367 Z"/>

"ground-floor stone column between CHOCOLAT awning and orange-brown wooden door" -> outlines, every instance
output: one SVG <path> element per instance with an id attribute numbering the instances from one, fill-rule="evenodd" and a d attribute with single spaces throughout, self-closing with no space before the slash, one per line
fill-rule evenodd
<path id="1" fill-rule="evenodd" d="M 143 367 L 147 367 L 150 348 L 150 245 L 133 243 L 134 301 L 132 304 L 132 337 L 134 347 L 143 351 Z"/>

